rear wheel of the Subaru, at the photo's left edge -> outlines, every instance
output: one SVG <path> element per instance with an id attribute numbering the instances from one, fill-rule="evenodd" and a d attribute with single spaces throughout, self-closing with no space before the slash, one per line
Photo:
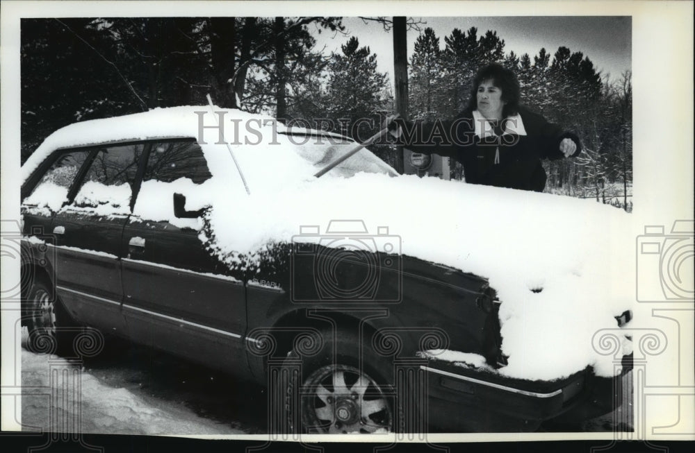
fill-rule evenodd
<path id="1" fill-rule="evenodd" d="M 74 356 L 73 342 L 79 328 L 74 325 L 58 300 L 53 287 L 35 280 L 29 289 L 28 350 L 37 354 Z"/>

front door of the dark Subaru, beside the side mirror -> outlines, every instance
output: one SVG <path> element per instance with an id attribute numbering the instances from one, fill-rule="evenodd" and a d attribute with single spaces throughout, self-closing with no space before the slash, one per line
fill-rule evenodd
<path id="1" fill-rule="evenodd" d="M 204 248 L 201 212 L 174 216 L 174 194 L 204 197 L 210 178 L 195 140 L 152 143 L 122 238 L 124 316 L 136 341 L 238 371 L 246 330 L 243 281 Z"/>

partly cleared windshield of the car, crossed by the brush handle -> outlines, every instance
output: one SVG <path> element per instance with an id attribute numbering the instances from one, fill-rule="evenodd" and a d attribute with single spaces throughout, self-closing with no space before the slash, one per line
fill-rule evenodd
<path id="1" fill-rule="evenodd" d="M 356 146 L 359 146 L 357 142 L 335 135 L 303 135 L 302 137 L 296 137 L 293 134 L 293 136 L 292 141 L 297 144 L 297 153 L 316 166 L 316 171 L 323 169 L 338 159 L 338 157 L 349 153 Z M 329 173 L 335 176 L 342 176 L 343 178 L 350 178 L 361 171 L 398 176 L 398 173 L 389 164 L 379 159 L 367 148 L 362 148 L 356 154 L 348 157 Z"/>

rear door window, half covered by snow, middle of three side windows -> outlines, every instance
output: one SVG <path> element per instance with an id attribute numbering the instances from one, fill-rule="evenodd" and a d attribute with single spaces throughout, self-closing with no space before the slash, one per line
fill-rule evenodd
<path id="1" fill-rule="evenodd" d="M 133 182 L 145 144 L 99 146 L 82 186 L 70 205 L 97 214 L 129 214 Z"/>

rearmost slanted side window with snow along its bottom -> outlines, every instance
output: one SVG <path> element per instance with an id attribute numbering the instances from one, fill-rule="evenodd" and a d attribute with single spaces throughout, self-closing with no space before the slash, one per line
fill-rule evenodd
<path id="1" fill-rule="evenodd" d="M 88 160 L 89 153 L 88 149 L 59 152 L 56 162 L 24 199 L 24 204 L 49 207 L 53 211 L 60 210 L 67 202 L 70 187 L 82 165 Z"/>

